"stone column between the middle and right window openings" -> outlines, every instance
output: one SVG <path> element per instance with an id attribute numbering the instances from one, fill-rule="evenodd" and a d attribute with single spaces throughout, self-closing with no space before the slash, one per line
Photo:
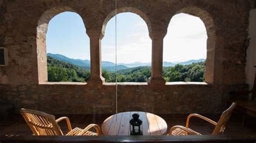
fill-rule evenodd
<path id="1" fill-rule="evenodd" d="M 163 42 L 166 31 L 151 31 L 150 38 L 152 40 L 152 61 L 151 61 L 151 77 L 149 84 L 165 85 L 162 76 L 163 72 Z"/>

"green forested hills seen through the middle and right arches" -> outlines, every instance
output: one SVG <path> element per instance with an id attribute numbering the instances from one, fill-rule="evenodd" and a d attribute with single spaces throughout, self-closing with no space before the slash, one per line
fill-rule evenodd
<path id="1" fill-rule="evenodd" d="M 163 77 L 166 82 L 186 81 L 203 82 L 205 62 L 192 63 L 190 65 L 176 65 L 164 67 Z M 151 67 L 136 67 L 117 71 L 117 82 L 147 82 L 151 76 Z M 106 82 L 115 82 L 115 74 L 103 70 Z"/>

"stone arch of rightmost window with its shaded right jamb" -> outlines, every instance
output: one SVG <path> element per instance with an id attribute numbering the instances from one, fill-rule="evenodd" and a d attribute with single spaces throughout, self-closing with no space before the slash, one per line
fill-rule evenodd
<path id="1" fill-rule="evenodd" d="M 178 13 L 186 13 L 192 16 L 199 17 L 205 27 L 207 33 L 207 54 L 206 54 L 206 69 L 205 69 L 205 82 L 207 83 L 214 83 L 214 65 L 215 65 L 215 46 L 216 46 L 216 34 L 215 34 L 215 25 L 214 20 L 210 13 L 207 11 L 198 8 L 197 6 L 188 6 L 186 8 L 178 10 Z M 171 20 L 171 19 L 170 19 Z M 169 21 L 170 23 L 170 21 Z"/>

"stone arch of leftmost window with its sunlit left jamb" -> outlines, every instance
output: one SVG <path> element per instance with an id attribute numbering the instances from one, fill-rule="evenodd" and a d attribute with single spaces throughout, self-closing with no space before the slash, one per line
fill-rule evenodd
<path id="1" fill-rule="evenodd" d="M 56 6 L 46 10 L 38 19 L 36 28 L 36 51 L 37 51 L 37 70 L 38 70 L 38 83 L 48 81 L 47 72 L 47 55 L 46 55 L 46 33 L 50 20 L 62 12 L 75 12 L 69 6 Z M 79 15 L 79 14 L 78 14 Z M 79 15 L 80 16 L 80 15 Z"/>

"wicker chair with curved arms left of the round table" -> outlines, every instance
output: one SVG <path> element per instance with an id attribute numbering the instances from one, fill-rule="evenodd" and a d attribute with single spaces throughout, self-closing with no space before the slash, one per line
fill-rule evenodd
<path id="1" fill-rule="evenodd" d="M 79 127 L 72 129 L 68 117 L 60 117 L 55 120 L 55 116 L 53 115 L 30 109 L 21 109 L 21 115 L 26 120 L 34 135 L 64 135 L 58 125 L 59 121 L 62 120 L 66 120 L 69 130 L 65 135 L 100 135 L 101 133 L 100 127 L 96 124 L 90 124 L 84 129 Z M 89 131 L 92 127 L 96 129 L 97 133 Z"/>

